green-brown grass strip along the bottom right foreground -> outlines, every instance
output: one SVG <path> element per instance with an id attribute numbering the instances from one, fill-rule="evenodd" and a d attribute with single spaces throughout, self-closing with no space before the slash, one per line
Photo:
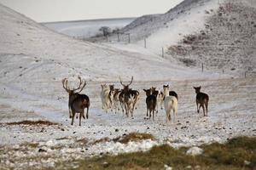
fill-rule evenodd
<path id="1" fill-rule="evenodd" d="M 167 144 L 146 152 L 98 156 L 79 161 L 76 169 L 255 169 L 256 137 L 238 137 L 226 144 L 203 144 L 200 156 L 188 156 L 188 148 L 176 150 Z"/>

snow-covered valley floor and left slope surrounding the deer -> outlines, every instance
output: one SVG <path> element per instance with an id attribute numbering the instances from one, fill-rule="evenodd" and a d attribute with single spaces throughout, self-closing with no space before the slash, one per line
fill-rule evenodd
<path id="1" fill-rule="evenodd" d="M 256 78 L 204 71 L 162 58 L 136 44 L 82 42 L 50 31 L 0 5 L 0 167 L 54 166 L 56 161 L 102 153 L 147 150 L 154 144 L 197 145 L 256 135 Z M 71 126 L 67 93 L 61 79 L 74 85 L 87 81 L 89 119 Z M 134 118 L 102 111 L 102 83 L 120 88 L 134 76 L 131 88 L 142 94 Z M 143 88 L 170 84 L 179 95 L 177 121 L 166 124 L 164 111 L 146 118 Z M 209 94 L 209 116 L 196 113 L 195 90 Z M 8 125 L 7 122 L 47 120 L 57 125 Z M 116 137 L 152 133 L 156 140 L 120 144 Z M 98 139 L 108 138 L 102 142 Z M 41 149 L 40 152 L 39 149 Z M 42 151 L 43 150 L 43 151 Z"/>

